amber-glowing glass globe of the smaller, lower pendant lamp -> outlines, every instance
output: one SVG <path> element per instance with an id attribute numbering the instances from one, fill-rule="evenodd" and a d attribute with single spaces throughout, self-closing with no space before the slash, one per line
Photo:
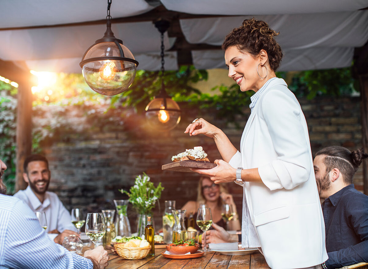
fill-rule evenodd
<path id="1" fill-rule="evenodd" d="M 166 100 L 166 107 L 164 104 Z M 170 97 L 156 97 L 146 106 L 148 125 L 159 131 L 169 131 L 180 122 L 179 105 Z"/>

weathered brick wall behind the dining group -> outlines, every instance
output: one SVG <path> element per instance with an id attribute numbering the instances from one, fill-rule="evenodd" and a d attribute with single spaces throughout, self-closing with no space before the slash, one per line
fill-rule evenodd
<path id="1" fill-rule="evenodd" d="M 350 150 L 361 147 L 360 99 L 316 98 L 300 103 L 308 123 L 313 154 L 320 148 L 342 145 Z M 88 211 L 113 208 L 112 200 L 126 198 L 118 189 L 129 189 L 135 175 L 146 172 L 154 183 L 161 182 L 165 188 L 160 199 L 161 212 L 164 200 L 176 200 L 181 208 L 188 200 L 197 197 L 198 175 L 162 171 L 161 165 L 171 162 L 171 156 L 185 148 L 202 146 L 211 161 L 220 158 L 213 140 L 205 136 L 189 137 L 184 134 L 188 122 L 203 117 L 215 124 L 229 136 L 239 148 L 242 129 L 217 119 L 215 111 L 198 111 L 183 108 L 180 124 L 169 133 L 153 132 L 146 128 L 142 116 L 129 111 L 114 111 L 114 117 L 103 114 L 105 107 L 99 107 L 94 117 L 86 116 L 86 108 L 67 107 L 58 114 L 64 126 L 54 137 L 43 143 L 43 152 L 50 160 L 52 182 L 49 190 L 55 191 L 68 209 L 88 208 Z M 88 107 L 90 110 L 91 107 Z M 50 112 L 50 111 L 49 111 Z M 124 112 L 125 116 L 120 116 Z M 242 126 L 250 114 L 237 117 Z M 34 117 L 34 125 L 45 121 L 47 111 Z M 49 115 L 50 117 L 50 115 Z M 362 171 L 356 173 L 354 183 L 362 190 Z M 228 184 L 238 212 L 241 214 L 242 189 Z M 129 218 L 135 230 L 135 213 L 130 207 Z M 155 208 L 155 224 L 161 226 L 162 213 Z"/>

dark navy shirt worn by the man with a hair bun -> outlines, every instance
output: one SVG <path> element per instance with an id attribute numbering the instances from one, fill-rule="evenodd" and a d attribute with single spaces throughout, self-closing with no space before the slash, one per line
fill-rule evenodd
<path id="1" fill-rule="evenodd" d="M 328 269 L 368 262 L 368 196 L 344 187 L 322 204 Z"/>

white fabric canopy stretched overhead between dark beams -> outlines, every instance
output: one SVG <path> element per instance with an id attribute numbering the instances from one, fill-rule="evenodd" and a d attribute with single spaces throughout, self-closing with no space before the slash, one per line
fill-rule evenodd
<path id="1" fill-rule="evenodd" d="M 57 26 L 105 19 L 104 0 L 1 0 L 0 28 L 48 25 L 46 28 L 0 30 L 0 59 L 25 61 L 35 71 L 81 72 L 86 49 L 101 38 L 103 24 Z M 368 40 L 368 0 L 161 0 L 168 10 L 191 14 L 236 15 L 180 19 L 185 39 L 192 44 L 220 46 L 224 36 L 244 19 L 265 20 L 284 58 L 279 71 L 324 69 L 351 65 L 354 47 Z M 337 3 L 338 2 L 338 3 Z M 113 18 L 152 10 L 144 0 L 113 0 Z M 248 15 L 244 15 L 248 14 Z M 249 15 L 255 14 L 255 15 Z M 271 15 L 270 15 L 271 14 Z M 279 15 L 272 15 L 279 14 Z M 122 39 L 139 61 L 139 69 L 160 68 L 160 34 L 151 21 L 115 23 L 114 35 Z M 175 39 L 164 35 L 166 50 Z M 197 68 L 224 68 L 221 50 L 192 50 Z M 177 69 L 176 52 L 167 53 L 166 69 Z M 0 74 L 1 75 L 1 74 Z"/>

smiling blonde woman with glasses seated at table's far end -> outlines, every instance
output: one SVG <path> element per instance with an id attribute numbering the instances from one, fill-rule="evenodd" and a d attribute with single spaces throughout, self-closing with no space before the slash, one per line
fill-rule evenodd
<path id="1" fill-rule="evenodd" d="M 195 221 L 197 218 L 198 208 L 205 205 L 205 207 L 211 209 L 212 223 L 216 223 L 226 229 L 226 222 L 223 220 L 221 215 L 222 205 L 225 203 L 231 206 L 234 213 L 233 218 L 229 221 L 229 229 L 240 230 L 240 221 L 233 196 L 227 193 L 227 190 L 222 184 L 213 183 L 208 176 L 201 176 L 199 179 L 197 187 L 197 201 L 188 201 L 181 210 L 187 210 L 187 218 L 190 216 L 190 213 L 192 213 Z M 195 223 L 195 227 L 193 228 L 199 231 L 201 230 L 197 223 Z M 213 228 L 210 227 L 210 229 Z"/>

